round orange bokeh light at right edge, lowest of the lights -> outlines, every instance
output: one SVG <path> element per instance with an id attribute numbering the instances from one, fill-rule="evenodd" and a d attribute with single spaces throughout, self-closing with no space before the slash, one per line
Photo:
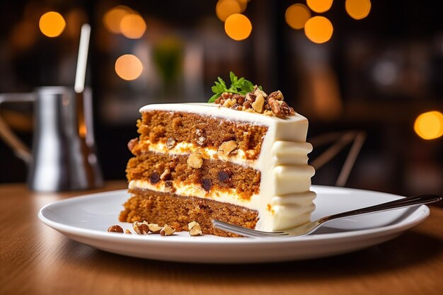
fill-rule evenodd
<path id="1" fill-rule="evenodd" d="M 443 114 L 433 110 L 420 114 L 414 122 L 414 131 L 422 139 L 437 139 L 443 135 Z"/>

